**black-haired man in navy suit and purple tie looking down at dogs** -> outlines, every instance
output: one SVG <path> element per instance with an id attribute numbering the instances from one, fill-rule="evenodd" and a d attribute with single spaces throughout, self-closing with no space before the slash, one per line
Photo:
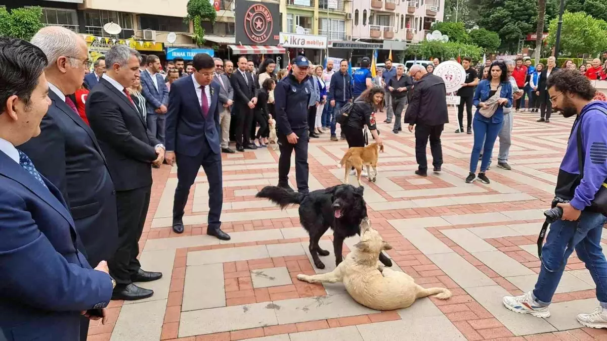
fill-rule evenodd
<path id="1" fill-rule="evenodd" d="M 173 231 L 183 233 L 183 208 L 198 169 L 209 180 L 206 234 L 229 240 L 220 227 L 223 204 L 222 158 L 219 142 L 219 87 L 212 82 L 215 63 L 206 53 L 194 56 L 194 73 L 171 86 L 166 114 L 166 162 L 177 158 L 177 189 L 173 203 Z"/>

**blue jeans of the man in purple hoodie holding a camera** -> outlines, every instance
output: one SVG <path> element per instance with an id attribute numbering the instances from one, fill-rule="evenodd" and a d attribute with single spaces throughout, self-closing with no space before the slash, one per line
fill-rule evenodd
<path id="1" fill-rule="evenodd" d="M 577 221 L 552 223 L 541 249 L 543 260 L 533 291 L 534 299 L 540 305 L 549 305 L 552 301 L 574 248 L 597 286 L 597 299 L 602 306 L 607 305 L 607 261 L 600 245 L 605 221 L 607 218 L 600 213 L 582 212 Z"/>

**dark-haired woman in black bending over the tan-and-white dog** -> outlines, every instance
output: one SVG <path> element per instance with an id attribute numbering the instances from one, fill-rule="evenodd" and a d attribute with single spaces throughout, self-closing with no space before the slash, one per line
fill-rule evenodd
<path id="1" fill-rule="evenodd" d="M 363 133 L 365 124 L 369 128 L 375 142 L 382 145 L 381 137 L 375 126 L 375 111 L 384 103 L 384 89 L 373 87 L 361 93 L 359 98 L 354 100 L 354 107 L 348 116 L 348 123 L 342 125 L 345 139 L 350 147 L 364 147 L 365 136 Z M 357 103 L 358 102 L 358 103 Z"/>

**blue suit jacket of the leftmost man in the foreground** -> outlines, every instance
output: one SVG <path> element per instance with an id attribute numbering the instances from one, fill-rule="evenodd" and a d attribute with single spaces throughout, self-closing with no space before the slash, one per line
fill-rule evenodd
<path id="1" fill-rule="evenodd" d="M 78 340 L 80 312 L 104 308 L 112 280 L 90 269 L 61 193 L 0 152 L 0 339 Z"/>

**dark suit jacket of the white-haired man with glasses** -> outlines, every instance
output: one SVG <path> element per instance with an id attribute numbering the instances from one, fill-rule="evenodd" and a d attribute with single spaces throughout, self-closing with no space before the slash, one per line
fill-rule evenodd
<path id="1" fill-rule="evenodd" d="M 90 265 L 114 255 L 118 218 L 114 183 L 95 134 L 52 91 L 41 134 L 19 146 L 69 205 Z"/>

